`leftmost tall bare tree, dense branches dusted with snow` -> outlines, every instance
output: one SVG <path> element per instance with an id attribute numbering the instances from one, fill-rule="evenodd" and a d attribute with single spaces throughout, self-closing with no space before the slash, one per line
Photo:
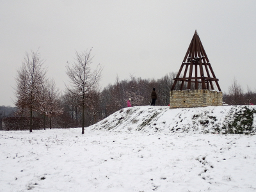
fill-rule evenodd
<path id="1" fill-rule="evenodd" d="M 38 51 L 26 53 L 22 67 L 17 71 L 16 78 L 17 100 L 15 105 L 24 110 L 28 109 L 30 114 L 29 132 L 32 132 L 32 115 L 40 107 L 41 84 L 45 81 L 44 61 L 40 59 Z"/>

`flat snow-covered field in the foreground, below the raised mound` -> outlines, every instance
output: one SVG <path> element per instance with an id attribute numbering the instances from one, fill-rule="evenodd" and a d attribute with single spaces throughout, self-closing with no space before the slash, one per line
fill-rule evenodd
<path id="1" fill-rule="evenodd" d="M 256 136 L 0 131 L 0 191 L 256 191 Z"/>

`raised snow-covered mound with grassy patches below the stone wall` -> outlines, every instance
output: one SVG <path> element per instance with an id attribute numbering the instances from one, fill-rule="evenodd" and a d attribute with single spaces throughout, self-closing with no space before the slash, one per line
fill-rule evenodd
<path id="1" fill-rule="evenodd" d="M 209 106 L 170 109 L 163 106 L 124 108 L 95 125 L 94 130 L 254 134 L 255 106 Z"/>

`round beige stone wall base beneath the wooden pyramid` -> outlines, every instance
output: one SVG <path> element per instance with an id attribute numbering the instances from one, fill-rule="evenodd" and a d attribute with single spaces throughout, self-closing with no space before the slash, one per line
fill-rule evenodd
<path id="1" fill-rule="evenodd" d="M 170 108 L 222 106 L 222 93 L 213 90 L 183 90 L 170 92 Z"/>

